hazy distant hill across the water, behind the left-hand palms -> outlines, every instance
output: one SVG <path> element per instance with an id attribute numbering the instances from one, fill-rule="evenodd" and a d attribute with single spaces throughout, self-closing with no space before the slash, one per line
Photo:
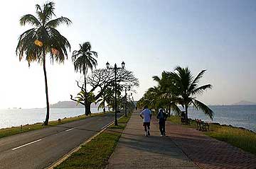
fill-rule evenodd
<path id="1" fill-rule="evenodd" d="M 98 104 L 95 105 L 95 103 L 92 103 L 91 107 L 97 108 Z M 81 104 L 78 104 L 74 101 L 59 101 L 58 103 L 51 104 L 50 108 L 83 108 L 84 106 Z"/>

